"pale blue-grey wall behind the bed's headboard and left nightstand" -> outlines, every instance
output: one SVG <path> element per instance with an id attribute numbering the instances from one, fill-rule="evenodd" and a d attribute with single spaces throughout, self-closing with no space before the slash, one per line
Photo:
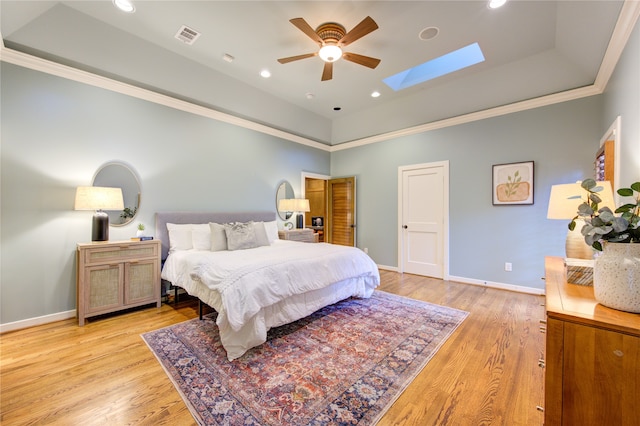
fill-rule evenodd
<path id="1" fill-rule="evenodd" d="M 91 239 L 91 212 L 75 188 L 104 163 L 138 173 L 129 239 L 162 210 L 274 210 L 276 185 L 300 194 L 302 171 L 329 173 L 329 154 L 107 90 L 1 65 L 0 321 L 75 309 L 75 247 Z"/>

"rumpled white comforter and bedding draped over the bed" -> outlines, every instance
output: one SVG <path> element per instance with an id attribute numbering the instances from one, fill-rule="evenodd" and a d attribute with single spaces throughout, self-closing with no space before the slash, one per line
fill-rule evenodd
<path id="1" fill-rule="evenodd" d="M 236 251 L 170 253 L 162 278 L 218 312 L 229 360 L 266 341 L 267 331 L 380 283 L 371 258 L 354 247 L 277 240 Z"/>

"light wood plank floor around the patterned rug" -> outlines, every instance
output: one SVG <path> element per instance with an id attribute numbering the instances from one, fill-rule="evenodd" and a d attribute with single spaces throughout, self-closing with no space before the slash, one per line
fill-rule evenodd
<path id="1" fill-rule="evenodd" d="M 379 425 L 541 425 L 544 298 L 381 271 L 380 290 L 470 312 Z M 193 425 L 140 334 L 197 302 L 0 336 L 2 425 Z"/>

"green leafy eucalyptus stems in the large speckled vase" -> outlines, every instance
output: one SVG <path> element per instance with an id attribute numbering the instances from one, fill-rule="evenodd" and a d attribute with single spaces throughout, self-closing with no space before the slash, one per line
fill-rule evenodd
<path id="1" fill-rule="evenodd" d="M 606 206 L 598 209 L 598 204 L 602 202 L 598 192 L 603 188 L 595 180 L 585 179 L 581 186 L 587 191 L 587 199 L 578 206 L 578 214 L 569 223 L 569 230 L 575 229 L 576 219 L 583 219 L 585 224 L 581 232 L 584 241 L 598 251 L 602 251 L 602 241 L 640 243 L 640 182 L 631 184 L 629 188 L 618 189 L 620 196 L 633 197 L 634 202 L 618 207 L 615 212 Z"/>

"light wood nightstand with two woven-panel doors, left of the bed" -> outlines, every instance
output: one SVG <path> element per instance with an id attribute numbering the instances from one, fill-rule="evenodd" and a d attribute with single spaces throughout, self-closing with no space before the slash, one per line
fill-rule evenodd
<path id="1" fill-rule="evenodd" d="M 161 306 L 159 240 L 78 244 L 77 265 L 78 325 L 135 306 Z"/>

